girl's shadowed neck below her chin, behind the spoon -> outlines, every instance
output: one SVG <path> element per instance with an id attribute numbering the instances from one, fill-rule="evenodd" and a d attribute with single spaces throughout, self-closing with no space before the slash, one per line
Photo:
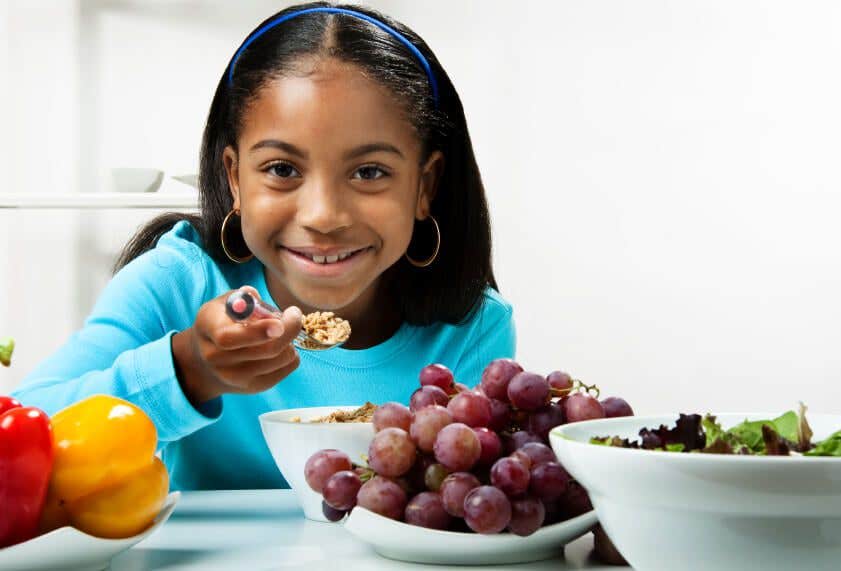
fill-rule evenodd
<path id="1" fill-rule="evenodd" d="M 350 322 L 351 336 L 343 348 L 367 349 L 379 345 L 391 338 L 400 328 L 403 320 L 390 296 L 384 291 L 382 281 L 382 279 L 377 280 L 353 302 L 334 311 L 336 315 Z M 321 311 L 321 308 L 311 307 L 297 300 L 268 271 L 266 271 L 266 286 L 272 299 L 280 307 L 296 305 L 304 315 Z"/>

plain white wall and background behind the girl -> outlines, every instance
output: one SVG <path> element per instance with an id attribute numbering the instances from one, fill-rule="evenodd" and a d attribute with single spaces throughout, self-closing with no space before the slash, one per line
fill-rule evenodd
<path id="1" fill-rule="evenodd" d="M 228 58 L 284 5 L 0 3 L 0 192 L 195 172 Z M 526 368 L 637 412 L 841 413 L 841 4 L 369 5 L 461 94 Z M 0 390 L 79 325 L 153 214 L 0 210 L 0 336 L 19 344 Z"/>

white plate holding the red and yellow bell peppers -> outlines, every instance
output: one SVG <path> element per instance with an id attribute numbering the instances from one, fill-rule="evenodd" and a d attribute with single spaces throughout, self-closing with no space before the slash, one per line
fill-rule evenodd
<path id="1" fill-rule="evenodd" d="M 105 569 L 115 555 L 155 533 L 172 515 L 180 495 L 180 492 L 170 493 L 155 522 L 132 537 L 102 539 L 73 527 L 61 527 L 29 541 L 0 549 L 0 571 Z"/>

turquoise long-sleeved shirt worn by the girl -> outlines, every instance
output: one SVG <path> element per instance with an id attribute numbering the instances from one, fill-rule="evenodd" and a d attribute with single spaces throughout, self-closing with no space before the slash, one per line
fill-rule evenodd
<path id="1" fill-rule="evenodd" d="M 172 335 L 193 325 L 202 304 L 243 285 L 274 304 L 263 270 L 256 259 L 217 264 L 195 229 L 179 222 L 114 276 L 84 327 L 24 379 L 15 398 L 50 415 L 92 394 L 133 402 L 155 423 L 172 489 L 288 487 L 263 440 L 260 414 L 408 403 L 418 372 L 430 363 L 443 363 L 457 381 L 473 386 L 489 361 L 514 356 L 511 306 L 488 288 L 462 324 L 403 324 L 368 349 L 300 351 L 298 369 L 275 387 L 226 394 L 197 409 L 176 378 Z"/>

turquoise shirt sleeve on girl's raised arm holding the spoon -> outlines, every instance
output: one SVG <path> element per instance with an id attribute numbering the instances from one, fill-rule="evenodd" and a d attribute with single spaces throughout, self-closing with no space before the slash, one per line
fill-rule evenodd
<path id="1" fill-rule="evenodd" d="M 206 270 L 189 250 L 155 248 L 109 282 L 83 328 L 14 391 L 27 406 L 55 414 L 85 397 L 110 394 L 140 407 L 159 447 L 207 426 L 221 399 L 194 408 L 181 390 L 172 336 L 190 327 L 203 303 Z"/>

